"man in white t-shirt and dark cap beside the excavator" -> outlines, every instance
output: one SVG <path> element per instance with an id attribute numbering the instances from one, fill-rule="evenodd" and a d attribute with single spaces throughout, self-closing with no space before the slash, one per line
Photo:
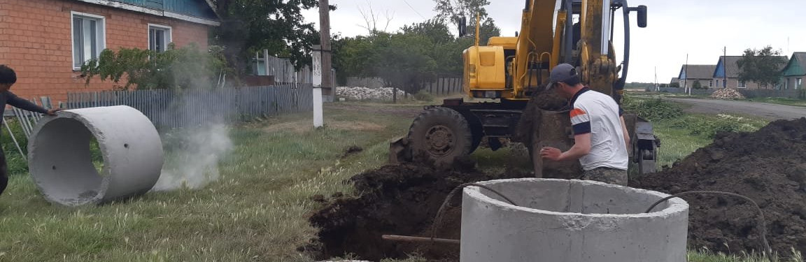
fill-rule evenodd
<path id="1" fill-rule="evenodd" d="M 548 88 L 571 100 L 574 146 L 565 152 L 544 147 L 540 150 L 542 158 L 579 159 L 583 179 L 626 186 L 629 135 L 616 100 L 580 83 L 576 69 L 567 63 L 551 70 Z"/>

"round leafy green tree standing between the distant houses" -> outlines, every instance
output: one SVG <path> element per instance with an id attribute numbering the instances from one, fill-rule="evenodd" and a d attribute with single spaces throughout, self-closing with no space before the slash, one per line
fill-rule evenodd
<path id="1" fill-rule="evenodd" d="M 737 61 L 739 81 L 754 81 L 760 86 L 778 84 L 781 69 L 786 64 L 786 57 L 781 56 L 781 51 L 773 50 L 771 46 L 760 50 L 748 48 Z"/>

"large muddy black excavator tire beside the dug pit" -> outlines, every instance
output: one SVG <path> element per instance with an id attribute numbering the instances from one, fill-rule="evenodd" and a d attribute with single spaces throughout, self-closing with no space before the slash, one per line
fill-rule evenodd
<path id="1" fill-rule="evenodd" d="M 414 119 L 408 141 L 413 154 L 430 158 L 436 166 L 452 166 L 455 158 L 472 152 L 473 134 L 462 114 L 438 107 Z"/>

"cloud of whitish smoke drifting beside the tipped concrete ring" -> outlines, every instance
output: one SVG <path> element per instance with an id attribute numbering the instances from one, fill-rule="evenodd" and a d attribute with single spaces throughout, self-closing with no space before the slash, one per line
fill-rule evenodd
<path id="1" fill-rule="evenodd" d="M 209 92 L 185 94 L 178 99 L 181 104 L 172 107 L 181 110 L 171 110 L 170 117 L 184 117 L 181 119 L 189 125 L 179 135 L 168 137 L 178 146 L 166 152 L 168 158 L 152 190 L 197 189 L 218 180 L 218 162 L 230 154 L 232 141 L 222 113 L 203 106 L 210 97 L 215 96 Z"/>

